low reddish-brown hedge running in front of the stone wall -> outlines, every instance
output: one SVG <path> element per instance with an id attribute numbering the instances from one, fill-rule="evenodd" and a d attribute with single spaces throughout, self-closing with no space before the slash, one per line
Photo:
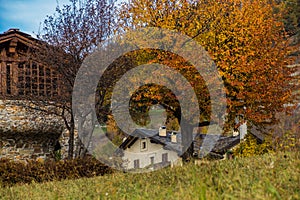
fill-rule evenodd
<path id="1" fill-rule="evenodd" d="M 11 161 L 0 159 L 2 186 L 110 174 L 113 170 L 94 158 L 55 161 Z"/>

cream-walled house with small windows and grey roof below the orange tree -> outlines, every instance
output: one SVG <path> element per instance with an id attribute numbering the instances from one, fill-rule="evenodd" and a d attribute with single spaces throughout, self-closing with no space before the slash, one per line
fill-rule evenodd
<path id="1" fill-rule="evenodd" d="M 165 132 L 165 134 L 162 134 Z M 136 129 L 125 138 L 118 152 L 123 160 L 123 169 L 159 169 L 181 163 L 181 142 L 171 141 L 170 133 L 164 130 Z"/>

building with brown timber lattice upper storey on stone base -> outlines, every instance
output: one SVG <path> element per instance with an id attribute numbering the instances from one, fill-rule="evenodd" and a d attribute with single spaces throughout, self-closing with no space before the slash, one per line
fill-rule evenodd
<path id="1" fill-rule="evenodd" d="M 61 148 L 62 121 L 32 109 L 32 100 L 61 93 L 59 74 L 31 56 L 41 44 L 19 29 L 0 34 L 0 158 L 45 158 Z"/>

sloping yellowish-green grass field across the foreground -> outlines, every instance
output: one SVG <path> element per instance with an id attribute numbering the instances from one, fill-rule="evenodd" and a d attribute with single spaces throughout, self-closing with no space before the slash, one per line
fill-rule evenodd
<path id="1" fill-rule="evenodd" d="M 0 188 L 0 199 L 300 199 L 300 153 Z"/>

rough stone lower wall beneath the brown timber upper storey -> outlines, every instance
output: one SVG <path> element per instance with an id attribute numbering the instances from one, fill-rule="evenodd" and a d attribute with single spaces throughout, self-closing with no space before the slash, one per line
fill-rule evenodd
<path id="1" fill-rule="evenodd" d="M 28 101 L 0 100 L 0 158 L 46 159 L 59 149 L 65 157 L 67 141 L 61 118 L 45 115 Z"/>

